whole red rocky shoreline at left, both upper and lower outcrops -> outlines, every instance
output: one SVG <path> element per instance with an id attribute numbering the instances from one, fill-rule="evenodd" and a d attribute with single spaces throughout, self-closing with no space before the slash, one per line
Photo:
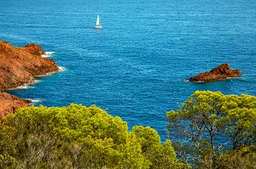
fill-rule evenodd
<path id="1" fill-rule="evenodd" d="M 0 120 L 31 103 L 1 91 L 32 83 L 36 80 L 34 76 L 59 71 L 54 59 L 43 58 L 42 54 L 45 52 L 38 44 L 19 48 L 0 40 Z"/>

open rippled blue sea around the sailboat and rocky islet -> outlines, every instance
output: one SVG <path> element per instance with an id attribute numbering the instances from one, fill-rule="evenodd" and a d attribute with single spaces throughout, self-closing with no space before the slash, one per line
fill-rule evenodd
<path id="1" fill-rule="evenodd" d="M 96 104 L 162 140 L 166 112 L 196 90 L 256 95 L 255 0 L 1 0 L 0 39 L 38 43 L 62 70 L 8 93 L 48 107 Z M 222 63 L 243 76 L 186 81 Z"/>

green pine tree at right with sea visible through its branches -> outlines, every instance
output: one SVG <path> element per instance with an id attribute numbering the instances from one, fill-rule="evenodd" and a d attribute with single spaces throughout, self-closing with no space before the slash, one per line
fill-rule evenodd
<path id="1" fill-rule="evenodd" d="M 183 161 L 198 168 L 256 168 L 256 97 L 197 91 L 166 118 Z"/>

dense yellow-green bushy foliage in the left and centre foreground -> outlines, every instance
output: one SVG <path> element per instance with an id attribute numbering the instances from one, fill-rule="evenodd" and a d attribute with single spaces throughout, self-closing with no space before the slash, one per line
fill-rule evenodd
<path id="1" fill-rule="evenodd" d="M 96 106 L 23 108 L 0 123 L 0 168 L 188 168 L 170 140 Z"/>

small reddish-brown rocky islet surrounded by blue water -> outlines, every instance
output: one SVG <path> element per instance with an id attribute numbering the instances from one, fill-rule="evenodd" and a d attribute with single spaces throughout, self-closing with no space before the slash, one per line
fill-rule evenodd
<path id="1" fill-rule="evenodd" d="M 189 82 L 214 82 L 241 76 L 241 70 L 232 70 L 229 64 L 218 65 L 211 71 L 206 71 L 189 78 Z"/>

